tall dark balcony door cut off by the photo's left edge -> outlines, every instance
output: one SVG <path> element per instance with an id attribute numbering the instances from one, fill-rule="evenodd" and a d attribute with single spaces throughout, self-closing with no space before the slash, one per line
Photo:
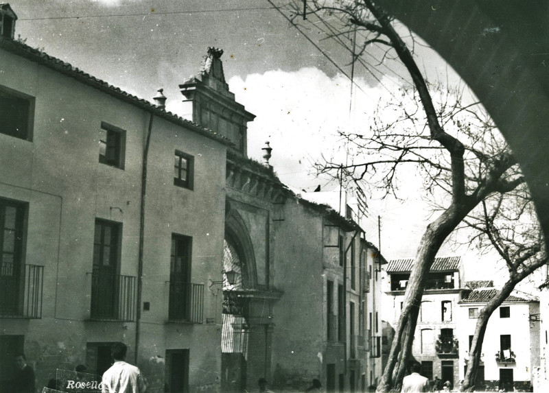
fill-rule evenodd
<path id="1" fill-rule="evenodd" d="M 21 202 L 0 199 L 0 315 L 23 312 L 23 220 Z"/>

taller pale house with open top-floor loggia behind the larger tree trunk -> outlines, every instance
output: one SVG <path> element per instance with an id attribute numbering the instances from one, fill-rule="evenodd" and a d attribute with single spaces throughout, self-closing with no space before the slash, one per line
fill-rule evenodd
<path id="1" fill-rule="evenodd" d="M 399 320 L 413 259 L 389 261 L 384 269 L 384 307 L 390 326 Z M 439 377 L 455 386 L 459 381 L 459 340 L 457 331 L 463 266 L 461 257 L 436 257 L 428 273 L 417 320 L 412 355 L 421 364 L 421 374 Z M 388 327 L 388 326 L 387 326 Z"/>

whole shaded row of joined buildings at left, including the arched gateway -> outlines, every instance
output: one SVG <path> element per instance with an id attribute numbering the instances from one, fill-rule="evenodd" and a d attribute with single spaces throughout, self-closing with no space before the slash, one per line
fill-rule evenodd
<path id="1" fill-rule="evenodd" d="M 121 341 L 150 392 L 375 385 L 383 259 L 270 147 L 248 158 L 222 51 L 180 84 L 192 122 L 13 40 L 1 10 L 0 381 L 21 351 L 38 388 L 102 374 Z"/>

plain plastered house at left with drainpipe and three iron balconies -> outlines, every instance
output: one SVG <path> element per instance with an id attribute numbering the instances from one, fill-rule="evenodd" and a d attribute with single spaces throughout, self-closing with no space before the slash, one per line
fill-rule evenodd
<path id="1" fill-rule="evenodd" d="M 14 40 L 10 5 L 0 19 L 0 381 L 19 352 L 38 387 L 102 374 L 121 341 L 151 392 L 218 390 L 231 141 Z"/>

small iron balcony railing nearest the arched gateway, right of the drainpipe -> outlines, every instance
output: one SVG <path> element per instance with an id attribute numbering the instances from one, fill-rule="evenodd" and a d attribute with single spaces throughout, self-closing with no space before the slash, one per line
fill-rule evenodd
<path id="1" fill-rule="evenodd" d="M 168 320 L 201 324 L 204 319 L 204 284 L 170 281 Z"/>

